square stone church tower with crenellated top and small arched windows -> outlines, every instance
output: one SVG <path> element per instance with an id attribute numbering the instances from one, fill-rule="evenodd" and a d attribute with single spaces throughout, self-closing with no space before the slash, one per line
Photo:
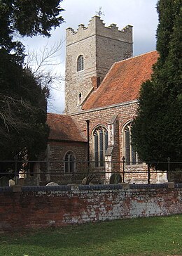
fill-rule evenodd
<path id="1" fill-rule="evenodd" d="M 65 113 L 81 111 L 82 103 L 104 79 L 111 65 L 132 57 L 132 26 L 118 30 L 116 24 L 105 27 L 94 16 L 83 24 L 66 30 Z"/>

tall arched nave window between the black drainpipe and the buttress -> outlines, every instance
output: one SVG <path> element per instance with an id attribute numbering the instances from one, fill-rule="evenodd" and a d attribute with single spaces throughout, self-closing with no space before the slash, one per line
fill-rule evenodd
<path id="1" fill-rule="evenodd" d="M 95 167 L 104 167 L 105 152 L 108 147 L 108 132 L 99 126 L 93 132 L 94 162 Z"/>

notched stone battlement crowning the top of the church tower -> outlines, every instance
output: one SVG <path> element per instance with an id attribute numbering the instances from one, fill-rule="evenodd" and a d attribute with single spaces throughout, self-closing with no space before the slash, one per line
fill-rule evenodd
<path id="1" fill-rule="evenodd" d="M 66 45 L 73 44 L 76 41 L 92 37 L 94 35 L 101 37 L 109 37 L 119 41 L 132 42 L 132 26 L 127 25 L 123 30 L 119 30 L 116 24 L 111 24 L 109 27 L 105 26 L 103 20 L 99 16 L 94 16 L 90 20 L 87 27 L 80 24 L 77 31 L 74 31 L 71 27 L 66 29 Z"/>

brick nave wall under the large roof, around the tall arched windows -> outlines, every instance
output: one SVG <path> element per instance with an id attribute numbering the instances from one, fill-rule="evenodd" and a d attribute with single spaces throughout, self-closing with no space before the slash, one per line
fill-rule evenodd
<path id="1" fill-rule="evenodd" d="M 113 117 L 117 117 L 116 129 L 115 129 L 115 143 L 113 148 L 112 160 L 120 161 L 123 158 L 123 126 L 128 120 L 132 120 L 137 110 L 137 102 L 124 103 L 113 106 L 112 108 L 102 108 L 83 111 L 71 115 L 73 120 L 80 128 L 80 131 L 87 136 L 87 124 L 85 120 L 90 120 L 90 160 L 93 160 L 93 141 L 92 132 L 98 125 L 104 125 L 108 127 L 108 124 L 113 120 Z M 94 168 L 96 171 L 99 168 Z M 113 164 L 113 172 L 121 172 L 122 165 L 119 166 L 117 163 Z M 147 179 L 146 179 L 147 181 Z"/>

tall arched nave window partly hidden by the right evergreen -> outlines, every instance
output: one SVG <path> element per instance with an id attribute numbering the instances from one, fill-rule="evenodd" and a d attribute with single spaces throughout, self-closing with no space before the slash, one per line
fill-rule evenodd
<path id="1" fill-rule="evenodd" d="M 124 129 L 124 156 L 126 165 L 137 165 L 140 164 L 137 151 L 134 151 L 131 144 L 131 128 L 132 122 L 127 124 Z"/>

